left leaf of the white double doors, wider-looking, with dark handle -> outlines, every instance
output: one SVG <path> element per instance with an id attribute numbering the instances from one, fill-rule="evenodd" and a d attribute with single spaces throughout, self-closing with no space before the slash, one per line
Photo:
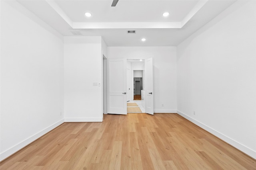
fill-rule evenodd
<path id="1" fill-rule="evenodd" d="M 126 59 L 107 59 L 107 112 L 127 114 Z"/>

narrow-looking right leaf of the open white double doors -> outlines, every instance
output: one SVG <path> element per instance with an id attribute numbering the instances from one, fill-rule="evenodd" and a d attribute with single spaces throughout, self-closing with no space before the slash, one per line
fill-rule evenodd
<path id="1" fill-rule="evenodd" d="M 153 58 L 145 59 L 145 110 L 146 113 L 154 115 L 153 98 Z"/>

